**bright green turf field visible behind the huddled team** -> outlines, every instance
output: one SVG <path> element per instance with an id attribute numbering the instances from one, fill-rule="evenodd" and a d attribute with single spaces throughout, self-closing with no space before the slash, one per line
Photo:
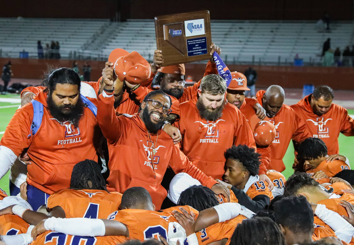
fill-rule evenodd
<path id="1" fill-rule="evenodd" d="M 2 95 L 0 96 L 1 98 L 19 98 L 18 95 Z M 17 106 L 15 106 L 17 105 Z M 6 126 L 8 122 L 10 121 L 12 115 L 15 113 L 19 103 L 8 103 L 8 102 L 0 102 L 0 138 L 3 134 L 3 131 L 5 131 Z M 6 108 L 4 108 L 6 106 Z M 13 106 L 13 107 L 9 107 Z M 354 114 L 354 110 L 348 110 L 349 114 Z M 353 150 L 353 145 L 354 145 L 354 137 L 346 137 L 342 134 L 339 135 L 339 154 L 347 156 L 349 160 L 354 159 L 354 150 Z M 286 170 L 283 172 L 284 176 L 287 178 L 289 177 L 292 173 L 293 170 L 291 168 L 293 161 L 294 161 L 294 148 L 292 146 L 292 142 L 290 142 L 290 145 L 286 151 L 286 154 L 283 158 L 283 161 L 286 166 Z M 354 164 L 354 163 L 353 163 Z M 351 165 L 352 169 L 354 165 Z M 4 189 L 5 191 L 8 192 L 8 173 L 0 180 L 0 187 Z"/>

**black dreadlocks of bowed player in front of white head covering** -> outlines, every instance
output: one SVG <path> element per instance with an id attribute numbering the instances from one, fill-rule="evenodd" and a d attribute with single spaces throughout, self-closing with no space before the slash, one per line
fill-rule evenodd
<path id="1" fill-rule="evenodd" d="M 181 193 L 177 205 L 189 205 L 200 212 L 218 204 L 215 193 L 210 188 L 194 185 Z"/>

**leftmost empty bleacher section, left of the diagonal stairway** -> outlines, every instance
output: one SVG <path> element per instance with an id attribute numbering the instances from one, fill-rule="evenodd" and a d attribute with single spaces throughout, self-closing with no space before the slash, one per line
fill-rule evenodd
<path id="1" fill-rule="evenodd" d="M 69 58 L 108 23 L 108 19 L 0 18 L 1 56 L 18 58 L 25 50 L 35 58 L 37 41 L 45 47 L 53 40 L 59 42 L 61 57 Z"/>

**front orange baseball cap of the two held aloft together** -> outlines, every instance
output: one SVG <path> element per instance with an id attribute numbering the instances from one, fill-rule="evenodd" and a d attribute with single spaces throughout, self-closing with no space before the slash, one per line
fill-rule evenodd
<path id="1" fill-rule="evenodd" d="M 116 59 L 114 72 L 120 81 L 126 80 L 130 84 L 144 86 L 144 82 L 151 76 L 151 67 L 146 59 L 133 51 Z"/>

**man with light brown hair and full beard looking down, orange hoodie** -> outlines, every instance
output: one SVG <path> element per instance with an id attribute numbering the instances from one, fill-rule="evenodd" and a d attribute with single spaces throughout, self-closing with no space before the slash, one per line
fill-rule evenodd
<path id="1" fill-rule="evenodd" d="M 181 149 L 208 176 L 221 179 L 224 152 L 232 145 L 256 149 L 253 133 L 239 109 L 225 101 L 225 80 L 216 74 L 204 76 L 198 99 L 181 103 Z"/>

